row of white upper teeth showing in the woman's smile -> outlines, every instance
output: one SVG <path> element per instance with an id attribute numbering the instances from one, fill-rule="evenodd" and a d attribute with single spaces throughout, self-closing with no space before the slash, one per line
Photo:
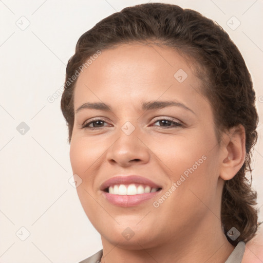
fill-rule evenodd
<path id="1" fill-rule="evenodd" d="M 129 185 L 114 185 L 109 186 L 109 194 L 112 195 L 139 195 L 139 194 L 147 194 L 147 193 L 154 193 L 157 192 L 157 188 L 153 187 L 151 189 L 150 186 L 146 185 L 145 187 L 143 185 L 136 186 L 134 183 Z"/>

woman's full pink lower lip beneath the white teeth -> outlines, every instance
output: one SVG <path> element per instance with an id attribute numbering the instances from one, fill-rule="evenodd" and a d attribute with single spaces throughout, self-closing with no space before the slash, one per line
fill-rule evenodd
<path id="1" fill-rule="evenodd" d="M 161 190 L 153 193 L 147 193 L 147 194 L 139 194 L 139 195 L 112 195 L 107 192 L 103 192 L 103 195 L 106 197 L 106 199 L 118 206 L 123 207 L 130 207 L 130 206 L 136 206 L 141 204 L 144 201 L 147 201 L 153 197 L 155 197 L 157 194 L 159 194 Z"/>

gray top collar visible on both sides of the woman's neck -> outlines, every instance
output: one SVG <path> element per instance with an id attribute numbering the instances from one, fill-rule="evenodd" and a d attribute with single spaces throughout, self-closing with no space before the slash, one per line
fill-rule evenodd
<path id="1" fill-rule="evenodd" d="M 232 251 L 227 261 L 225 261 L 224 263 L 241 263 L 245 252 L 245 248 L 246 248 L 245 242 L 243 241 L 238 242 L 235 249 Z M 102 254 L 103 254 L 103 250 L 100 250 L 93 256 L 88 257 L 79 263 L 100 263 Z"/>

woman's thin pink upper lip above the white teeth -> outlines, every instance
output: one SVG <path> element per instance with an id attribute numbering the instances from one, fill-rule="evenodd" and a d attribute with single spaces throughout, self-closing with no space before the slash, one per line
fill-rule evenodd
<path id="1" fill-rule="evenodd" d="M 151 188 L 162 188 L 160 185 L 154 183 L 153 181 L 139 176 L 139 175 L 127 175 L 127 176 L 114 176 L 101 184 L 100 190 L 104 191 L 109 186 L 115 184 L 131 184 L 131 183 L 140 183 L 150 186 Z"/>

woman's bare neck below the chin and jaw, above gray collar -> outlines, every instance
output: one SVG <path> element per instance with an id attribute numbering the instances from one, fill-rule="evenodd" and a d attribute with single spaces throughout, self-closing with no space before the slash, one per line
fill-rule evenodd
<path id="1" fill-rule="evenodd" d="M 155 246 L 143 246 L 139 240 L 130 239 L 128 245 L 120 242 L 113 245 L 102 237 L 102 263 L 224 263 L 234 250 L 221 229 L 221 222 L 213 213 L 207 220 L 182 233 L 171 234 L 170 239 Z M 132 241 L 133 240 L 133 241 Z M 133 243 L 132 243 L 132 242 Z M 136 249 L 135 249 L 136 247 Z"/>

